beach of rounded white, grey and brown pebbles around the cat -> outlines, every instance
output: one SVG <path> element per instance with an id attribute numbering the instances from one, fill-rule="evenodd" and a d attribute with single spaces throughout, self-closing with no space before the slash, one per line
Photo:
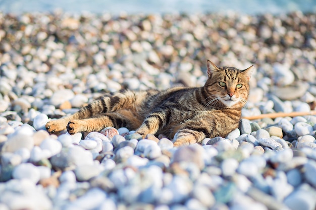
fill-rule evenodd
<path id="1" fill-rule="evenodd" d="M 45 123 L 121 89 L 256 67 L 243 117 L 316 107 L 316 15 L 0 13 L 0 210 L 314 210 L 316 115 L 248 120 L 173 147 Z"/>

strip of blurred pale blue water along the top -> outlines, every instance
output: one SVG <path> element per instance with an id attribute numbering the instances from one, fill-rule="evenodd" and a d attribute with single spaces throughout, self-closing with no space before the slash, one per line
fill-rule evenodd
<path id="1" fill-rule="evenodd" d="M 0 0 L 0 11 L 23 12 L 91 12 L 111 14 L 149 13 L 242 13 L 281 14 L 292 11 L 316 12 L 316 0 Z"/>

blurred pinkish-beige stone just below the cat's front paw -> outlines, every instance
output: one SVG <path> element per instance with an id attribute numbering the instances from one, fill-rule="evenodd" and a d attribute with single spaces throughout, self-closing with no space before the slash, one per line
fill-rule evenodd
<path id="1" fill-rule="evenodd" d="M 204 167 L 203 153 L 204 151 L 200 146 L 180 147 L 174 153 L 172 163 L 194 163 L 199 169 L 202 169 Z"/>

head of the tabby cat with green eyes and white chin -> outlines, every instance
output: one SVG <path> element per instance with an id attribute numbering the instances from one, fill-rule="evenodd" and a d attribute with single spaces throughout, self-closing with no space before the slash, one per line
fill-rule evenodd
<path id="1" fill-rule="evenodd" d="M 249 80 L 254 66 L 245 70 L 235 67 L 218 67 L 207 60 L 207 76 L 205 90 L 213 95 L 211 106 L 241 108 L 246 104 L 249 95 Z"/>

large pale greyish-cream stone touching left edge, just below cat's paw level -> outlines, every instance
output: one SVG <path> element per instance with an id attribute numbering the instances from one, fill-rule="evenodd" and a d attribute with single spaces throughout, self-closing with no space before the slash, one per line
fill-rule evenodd
<path id="1" fill-rule="evenodd" d="M 31 151 L 33 147 L 34 140 L 32 136 L 15 134 L 10 136 L 4 143 L 2 151 L 14 153 L 21 148 L 26 148 L 27 150 Z"/>

